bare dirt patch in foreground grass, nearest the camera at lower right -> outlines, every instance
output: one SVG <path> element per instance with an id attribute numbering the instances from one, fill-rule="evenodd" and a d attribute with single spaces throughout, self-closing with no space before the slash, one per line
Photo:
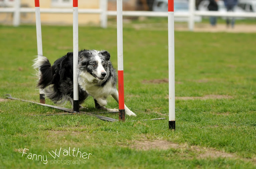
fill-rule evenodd
<path id="1" fill-rule="evenodd" d="M 197 154 L 196 158 L 236 157 L 236 155 L 234 154 L 218 151 L 213 148 L 188 146 L 187 144 L 172 143 L 170 141 L 165 141 L 165 140 L 136 140 L 131 147 L 135 149 L 145 150 L 145 151 L 150 149 L 159 149 L 159 150 L 167 150 L 170 148 L 182 149 L 183 150 L 182 152 L 191 152 L 191 151 L 195 152 Z"/>

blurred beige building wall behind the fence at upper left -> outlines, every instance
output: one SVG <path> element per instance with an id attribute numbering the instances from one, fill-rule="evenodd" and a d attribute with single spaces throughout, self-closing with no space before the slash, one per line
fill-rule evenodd
<path id="1" fill-rule="evenodd" d="M 142 0 L 123 0 L 123 10 L 146 10 L 145 7 L 138 6 L 138 2 Z M 15 2 L 14 0 L 11 2 Z M 20 0 L 21 7 L 34 8 L 34 0 Z M 53 6 L 52 0 L 40 0 L 40 8 L 73 8 L 72 0 L 66 7 Z M 13 4 L 13 3 L 12 3 Z M 100 0 L 79 0 L 78 9 L 98 9 L 100 6 Z M 9 6 L 10 7 L 10 6 Z M 116 0 L 108 0 L 108 10 L 116 11 Z M 12 24 L 13 13 L 0 13 L 0 24 Z M 35 14 L 34 13 L 21 13 L 21 23 L 34 24 Z M 72 25 L 73 14 L 52 14 L 52 13 L 41 13 L 41 23 L 48 25 Z M 79 14 L 78 15 L 79 25 L 98 25 L 100 24 L 100 14 Z"/>

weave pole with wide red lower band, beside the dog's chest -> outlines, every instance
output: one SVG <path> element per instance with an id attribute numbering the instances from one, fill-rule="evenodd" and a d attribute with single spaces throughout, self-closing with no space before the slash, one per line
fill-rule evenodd
<path id="1" fill-rule="evenodd" d="M 118 72 L 118 98 L 119 121 L 125 121 L 124 112 L 124 87 L 123 87 L 123 25 L 122 25 L 122 0 L 116 1 L 117 25 L 117 72 Z"/>

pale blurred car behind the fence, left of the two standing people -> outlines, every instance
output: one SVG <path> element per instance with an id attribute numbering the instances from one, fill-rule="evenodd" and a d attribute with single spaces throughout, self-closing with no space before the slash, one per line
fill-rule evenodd
<path id="1" fill-rule="evenodd" d="M 155 12 L 166 12 L 168 11 L 168 0 L 154 0 L 152 11 Z M 188 0 L 174 0 L 174 11 L 175 12 L 189 12 L 189 2 Z M 201 22 L 201 16 L 194 17 L 195 22 Z M 187 22 L 188 17 L 174 17 L 175 21 Z"/>

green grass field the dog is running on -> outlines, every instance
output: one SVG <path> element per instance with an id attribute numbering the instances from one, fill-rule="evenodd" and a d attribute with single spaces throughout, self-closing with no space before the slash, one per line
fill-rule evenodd
<path id="1" fill-rule="evenodd" d="M 5 99 L 8 93 L 39 100 L 31 67 L 37 45 L 35 26 L 0 26 L 0 33 L 0 168 L 256 168 L 256 34 L 175 32 L 172 131 L 166 30 L 124 27 L 125 103 L 138 115 L 126 116 L 125 123 L 31 116 L 61 111 Z M 43 26 L 42 41 L 53 63 L 72 51 L 72 27 Z M 117 68 L 116 29 L 79 27 L 79 49 L 84 48 L 108 50 Z M 83 106 L 95 111 L 92 98 Z M 118 105 L 108 98 L 107 107 Z M 167 120 L 128 122 L 151 118 Z M 29 150 L 19 153 L 20 148 Z M 80 158 L 78 148 L 89 158 Z M 52 150 L 60 156 L 54 159 Z M 47 156 L 47 163 L 41 156 L 29 159 L 29 153 Z"/>

